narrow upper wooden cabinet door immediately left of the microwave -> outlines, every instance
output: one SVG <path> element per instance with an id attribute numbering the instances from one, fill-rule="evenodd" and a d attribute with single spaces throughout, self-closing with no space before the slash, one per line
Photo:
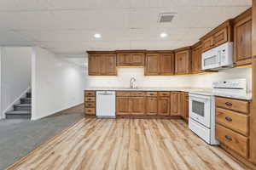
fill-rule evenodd
<path id="1" fill-rule="evenodd" d="M 201 46 L 192 49 L 192 72 L 200 73 L 201 71 Z"/>

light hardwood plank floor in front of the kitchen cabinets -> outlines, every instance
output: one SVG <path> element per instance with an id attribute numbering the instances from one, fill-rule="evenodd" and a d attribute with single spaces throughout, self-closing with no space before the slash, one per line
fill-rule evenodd
<path id="1" fill-rule="evenodd" d="M 243 169 L 181 120 L 85 118 L 8 170 Z"/>

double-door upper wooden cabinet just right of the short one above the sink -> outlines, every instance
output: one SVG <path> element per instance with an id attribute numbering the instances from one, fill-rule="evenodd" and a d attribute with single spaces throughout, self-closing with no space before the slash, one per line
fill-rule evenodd
<path id="1" fill-rule="evenodd" d="M 174 54 L 149 53 L 145 59 L 146 76 L 170 76 L 174 75 Z"/>

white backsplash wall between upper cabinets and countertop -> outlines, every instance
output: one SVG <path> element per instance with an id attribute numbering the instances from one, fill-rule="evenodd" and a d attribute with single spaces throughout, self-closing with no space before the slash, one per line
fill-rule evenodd
<path id="1" fill-rule="evenodd" d="M 252 89 L 252 69 L 249 68 L 235 68 L 206 75 L 171 77 L 145 77 L 143 68 L 119 68 L 118 77 L 87 76 L 85 88 L 128 88 L 131 77 L 136 77 L 137 86 L 143 88 L 212 88 L 212 82 L 218 80 L 247 78 L 248 88 Z"/>

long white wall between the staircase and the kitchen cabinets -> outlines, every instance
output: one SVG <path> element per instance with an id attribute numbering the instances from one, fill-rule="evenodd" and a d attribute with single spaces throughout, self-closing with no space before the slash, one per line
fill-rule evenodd
<path id="1" fill-rule="evenodd" d="M 33 48 L 32 119 L 83 103 L 84 77 L 79 66 L 46 49 Z"/>

